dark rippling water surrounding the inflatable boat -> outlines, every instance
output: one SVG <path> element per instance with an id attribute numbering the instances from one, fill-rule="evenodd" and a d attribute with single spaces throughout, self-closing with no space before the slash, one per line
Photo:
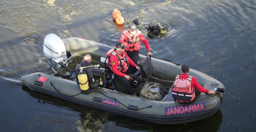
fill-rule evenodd
<path id="1" fill-rule="evenodd" d="M 2 132 L 254 132 L 256 131 L 256 3 L 253 0 L 6 0 L 0 1 L 0 129 Z M 118 8 L 125 23 L 116 25 Z M 115 45 L 135 16 L 152 56 L 188 64 L 226 87 L 211 117 L 159 125 L 32 92 L 21 76 L 51 73 L 43 39 L 85 37 Z M 151 20 L 168 24 L 147 37 Z M 122 27 L 124 27 L 122 29 Z M 145 46 L 140 50 L 146 54 Z"/>

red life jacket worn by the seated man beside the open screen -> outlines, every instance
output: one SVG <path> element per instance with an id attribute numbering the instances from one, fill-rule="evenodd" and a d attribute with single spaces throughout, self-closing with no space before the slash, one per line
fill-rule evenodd
<path id="1" fill-rule="evenodd" d="M 112 53 L 110 54 L 111 51 L 112 51 Z M 107 52 L 106 55 L 109 55 L 108 61 L 109 61 L 109 68 L 111 71 L 113 71 L 111 62 L 110 62 L 111 55 L 115 55 L 119 59 L 118 64 L 117 64 L 118 71 L 122 71 L 123 73 L 127 71 L 128 67 L 129 67 L 129 63 L 128 63 L 128 59 L 127 59 L 125 53 L 122 53 L 122 56 L 120 56 L 119 54 L 116 53 L 116 50 L 114 51 L 113 49 L 111 49 L 111 50 L 109 50 L 109 52 Z"/>

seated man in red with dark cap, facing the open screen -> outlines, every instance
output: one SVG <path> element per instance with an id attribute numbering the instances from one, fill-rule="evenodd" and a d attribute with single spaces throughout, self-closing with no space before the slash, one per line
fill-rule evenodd
<path id="1" fill-rule="evenodd" d="M 126 52 L 124 52 L 125 48 L 126 46 L 122 42 L 116 43 L 116 50 L 111 53 L 109 58 L 109 68 L 114 72 L 115 78 L 124 84 L 129 94 L 137 96 L 129 83 L 130 76 L 126 75 L 129 74 L 126 71 L 128 70 L 129 65 L 135 67 L 137 70 L 139 70 L 140 67 L 127 56 Z"/>

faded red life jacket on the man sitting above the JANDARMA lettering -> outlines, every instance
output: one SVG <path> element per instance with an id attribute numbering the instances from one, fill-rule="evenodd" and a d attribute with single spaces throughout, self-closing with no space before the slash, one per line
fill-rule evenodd
<path id="1" fill-rule="evenodd" d="M 172 89 L 173 98 L 179 102 L 190 102 L 194 99 L 194 87 L 191 90 L 192 76 L 188 76 L 187 79 L 180 79 L 180 75 L 176 76 L 174 87 Z"/>

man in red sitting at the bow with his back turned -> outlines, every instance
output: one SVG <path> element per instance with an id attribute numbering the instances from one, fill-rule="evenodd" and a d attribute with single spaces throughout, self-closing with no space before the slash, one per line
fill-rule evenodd
<path id="1" fill-rule="evenodd" d="M 172 87 L 173 98 L 175 100 L 179 101 L 181 104 L 190 104 L 195 101 L 195 99 L 200 94 L 200 92 L 204 92 L 206 94 L 215 94 L 214 90 L 209 91 L 209 90 L 206 90 L 204 87 L 202 87 L 198 83 L 197 78 L 189 76 L 188 75 L 189 71 L 190 71 L 189 66 L 187 64 L 184 64 L 181 66 L 182 74 L 177 75 L 175 77 L 175 82 L 174 82 L 175 86 Z M 186 83 L 185 80 L 189 82 L 185 85 L 187 85 L 187 87 L 190 88 L 190 90 L 187 88 L 179 88 L 178 82 L 184 81 L 184 83 Z M 183 84 L 180 83 L 180 84 L 184 85 L 184 83 Z M 186 99 L 189 99 L 189 100 L 186 100 Z"/>

